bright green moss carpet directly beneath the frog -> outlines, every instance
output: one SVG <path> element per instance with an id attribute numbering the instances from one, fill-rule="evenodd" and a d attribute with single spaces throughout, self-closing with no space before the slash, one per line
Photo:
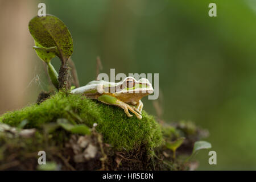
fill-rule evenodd
<path id="1" fill-rule="evenodd" d="M 92 127 L 97 123 L 97 131 L 104 137 L 104 142 L 112 144 L 117 150 L 129 151 L 144 145 L 148 154 L 154 154 L 153 148 L 163 144 L 160 126 L 145 111 L 141 120 L 127 117 L 116 106 L 88 100 L 84 96 L 59 92 L 42 104 L 33 104 L 21 110 L 10 111 L 0 117 L 0 122 L 18 126 L 27 119 L 27 128 L 41 128 L 44 123 L 56 122 L 58 118 L 85 123 Z"/>

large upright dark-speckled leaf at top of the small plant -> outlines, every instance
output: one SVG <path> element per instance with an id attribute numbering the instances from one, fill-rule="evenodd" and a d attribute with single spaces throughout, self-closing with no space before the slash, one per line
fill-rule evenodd
<path id="1" fill-rule="evenodd" d="M 63 63 L 67 62 L 73 53 L 73 40 L 59 18 L 53 15 L 35 16 L 30 20 L 28 28 L 36 43 L 44 48 L 56 47 L 56 55 Z"/>

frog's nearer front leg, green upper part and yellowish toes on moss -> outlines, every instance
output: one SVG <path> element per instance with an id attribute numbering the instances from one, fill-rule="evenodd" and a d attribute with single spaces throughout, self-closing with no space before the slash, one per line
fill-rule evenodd
<path id="1" fill-rule="evenodd" d="M 115 98 L 113 96 L 109 96 L 109 95 L 102 95 L 100 97 L 97 98 L 98 101 L 101 101 L 105 104 L 109 104 L 109 105 L 115 105 L 118 107 L 121 107 L 125 113 L 127 114 L 128 117 L 132 117 L 133 115 L 131 115 L 129 113 L 129 110 L 134 113 L 138 119 L 142 118 L 142 115 L 137 113 L 137 111 L 135 111 L 129 104 L 126 104 L 125 102 L 122 102 L 121 100 L 119 100 L 118 98 Z"/>

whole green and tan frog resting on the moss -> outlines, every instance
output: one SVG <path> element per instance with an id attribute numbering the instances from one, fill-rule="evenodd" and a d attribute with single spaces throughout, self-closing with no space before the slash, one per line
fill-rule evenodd
<path id="1" fill-rule="evenodd" d="M 121 107 L 128 117 L 133 116 L 129 113 L 131 111 L 138 119 L 142 119 L 143 103 L 141 98 L 153 92 L 154 89 L 147 78 L 137 81 L 134 77 L 126 77 L 117 83 L 104 80 L 91 81 L 87 85 L 71 91 L 73 94 L 83 94 L 86 98 Z"/>

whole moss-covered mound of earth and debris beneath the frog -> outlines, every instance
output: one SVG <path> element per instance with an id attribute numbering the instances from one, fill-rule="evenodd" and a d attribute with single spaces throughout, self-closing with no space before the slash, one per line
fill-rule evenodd
<path id="1" fill-rule="evenodd" d="M 145 111 L 142 117 L 129 118 L 119 107 L 57 92 L 40 104 L 1 115 L 7 125 L 0 125 L 0 169 L 42 169 L 40 150 L 57 169 L 187 169 L 179 156 L 191 154 L 193 143 L 204 137 L 202 130 L 191 122 L 160 126 Z M 173 158 L 166 143 L 180 137 L 185 140 Z"/>

